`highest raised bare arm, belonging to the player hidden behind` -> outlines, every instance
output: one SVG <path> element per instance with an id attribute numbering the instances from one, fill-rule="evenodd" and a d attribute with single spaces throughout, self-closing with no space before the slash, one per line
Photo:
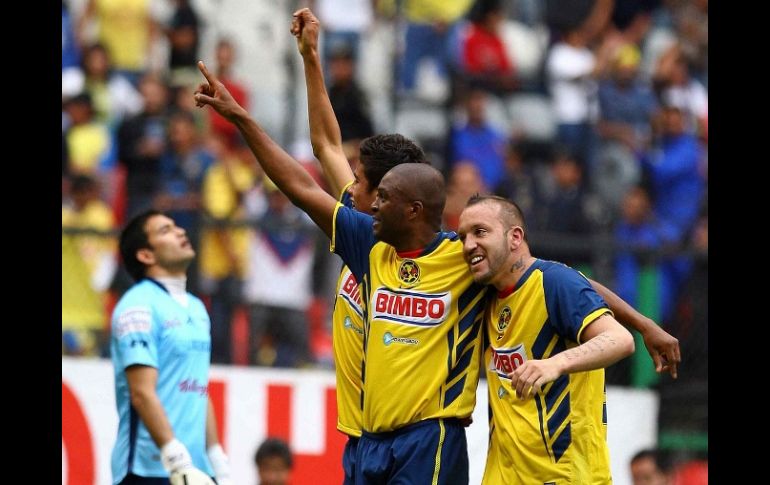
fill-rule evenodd
<path id="1" fill-rule="evenodd" d="M 318 55 L 319 30 L 318 19 L 310 9 L 303 8 L 294 12 L 291 33 L 297 38 L 297 49 L 305 66 L 310 142 L 313 154 L 321 162 L 332 194 L 339 197 L 342 189 L 353 181 L 353 171 L 342 150 L 340 126 L 324 85 L 321 58 Z"/>

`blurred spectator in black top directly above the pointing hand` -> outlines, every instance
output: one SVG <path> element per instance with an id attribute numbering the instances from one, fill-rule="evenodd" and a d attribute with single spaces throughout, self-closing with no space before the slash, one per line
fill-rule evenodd
<path id="1" fill-rule="evenodd" d="M 166 29 L 171 52 L 168 67 L 172 86 L 197 86 L 200 21 L 190 0 L 174 0 L 174 12 Z"/>

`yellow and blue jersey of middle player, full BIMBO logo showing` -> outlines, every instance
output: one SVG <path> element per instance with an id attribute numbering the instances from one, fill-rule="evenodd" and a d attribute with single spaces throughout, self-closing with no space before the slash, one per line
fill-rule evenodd
<path id="1" fill-rule="evenodd" d="M 470 416 L 486 288 L 473 282 L 457 234 L 399 254 L 374 237 L 371 216 L 338 204 L 332 249 L 365 302 L 363 430 Z"/>

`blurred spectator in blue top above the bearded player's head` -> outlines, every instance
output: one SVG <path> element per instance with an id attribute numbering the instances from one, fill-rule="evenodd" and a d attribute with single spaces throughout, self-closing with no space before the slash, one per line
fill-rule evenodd
<path id="1" fill-rule="evenodd" d="M 472 89 L 465 99 L 465 121 L 455 123 L 449 133 L 449 160 L 476 166 L 486 187 L 496 187 L 504 172 L 506 139 L 486 118 L 487 94 Z"/>

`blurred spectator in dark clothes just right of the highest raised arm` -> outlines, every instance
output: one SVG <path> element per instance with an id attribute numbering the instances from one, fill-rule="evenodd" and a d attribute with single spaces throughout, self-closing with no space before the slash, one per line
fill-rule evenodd
<path id="1" fill-rule="evenodd" d="M 328 55 L 329 100 L 340 124 L 342 141 L 360 141 L 374 135 L 369 103 L 355 80 L 353 51 L 339 47 Z"/>

